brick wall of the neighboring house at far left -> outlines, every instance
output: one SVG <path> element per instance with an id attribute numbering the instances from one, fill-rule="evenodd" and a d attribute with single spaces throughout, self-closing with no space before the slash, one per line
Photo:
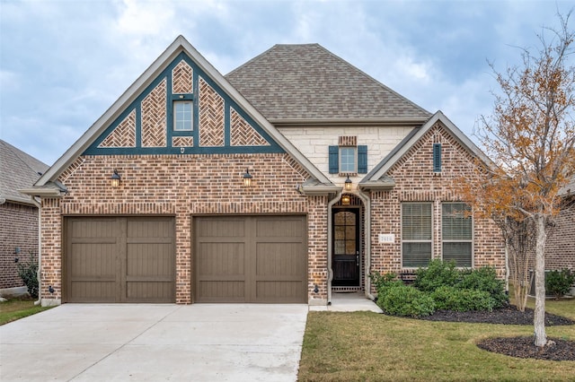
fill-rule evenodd
<path id="1" fill-rule="evenodd" d="M 20 261 L 38 259 L 38 209 L 30 205 L 0 204 L 0 289 L 23 285 L 16 272 L 14 248 Z"/>

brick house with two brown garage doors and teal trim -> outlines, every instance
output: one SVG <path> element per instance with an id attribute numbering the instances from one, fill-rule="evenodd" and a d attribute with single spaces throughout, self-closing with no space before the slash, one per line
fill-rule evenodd
<path id="1" fill-rule="evenodd" d="M 498 229 L 456 193 L 476 158 L 443 113 L 317 44 L 224 76 L 178 37 L 25 190 L 42 304 L 324 305 L 432 257 L 502 277 Z"/>

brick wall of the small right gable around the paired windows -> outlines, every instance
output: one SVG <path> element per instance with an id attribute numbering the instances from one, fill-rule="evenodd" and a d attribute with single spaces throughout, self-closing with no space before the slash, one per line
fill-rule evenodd
<path id="1" fill-rule="evenodd" d="M 442 143 L 442 171 L 433 172 L 433 143 Z M 441 124 L 429 129 L 388 174 L 396 186 L 389 192 L 372 193 L 371 271 L 400 273 L 401 205 L 403 202 L 431 202 L 433 206 L 433 256 L 441 257 L 441 203 L 459 201 L 456 182 L 472 176 L 473 158 Z M 500 277 L 505 274 L 505 251 L 500 230 L 489 220 L 473 217 L 473 265 L 495 266 Z M 379 233 L 393 233 L 394 243 L 379 243 Z M 404 270 L 405 271 L 405 270 Z"/>

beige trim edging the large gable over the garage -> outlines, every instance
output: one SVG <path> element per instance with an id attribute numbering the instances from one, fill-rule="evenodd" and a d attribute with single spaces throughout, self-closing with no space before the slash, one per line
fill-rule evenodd
<path id="1" fill-rule="evenodd" d="M 279 131 L 270 124 L 270 122 L 261 115 L 261 113 L 252 107 L 252 105 L 243 98 L 243 95 L 234 89 L 234 87 L 220 74 L 217 69 L 208 63 L 208 60 L 201 56 L 199 52 L 193 48 L 187 39 L 178 36 L 173 43 L 166 48 L 164 53 L 155 59 L 154 63 L 150 65 L 146 71 L 141 74 L 136 82 L 129 86 L 116 102 L 114 102 L 110 109 L 98 118 L 96 122 L 82 135 L 65 153 L 60 157 L 54 165 L 38 180 L 36 183 L 36 190 L 25 190 L 29 195 L 38 195 L 38 187 L 54 187 L 57 177 L 64 171 L 72 161 L 81 155 L 90 145 L 104 132 L 104 130 L 114 121 L 126 107 L 146 89 L 156 76 L 173 61 L 173 59 L 185 53 L 187 56 L 197 64 L 208 76 L 221 87 L 226 94 L 240 105 L 243 110 L 258 123 L 267 134 L 269 134 L 276 143 L 279 144 L 288 154 L 290 154 L 299 164 L 315 179 L 322 184 L 332 185 L 332 182 L 326 178 L 323 173 L 315 168 L 311 161 L 309 161 L 301 152 L 298 152 L 296 147 L 281 135 Z M 57 188 L 57 187 L 55 187 Z M 51 194 L 50 194 L 51 195 Z"/>

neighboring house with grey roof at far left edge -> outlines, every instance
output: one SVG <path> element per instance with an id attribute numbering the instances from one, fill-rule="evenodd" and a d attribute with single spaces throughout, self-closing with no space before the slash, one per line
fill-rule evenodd
<path id="1" fill-rule="evenodd" d="M 38 204 L 18 190 L 30 188 L 48 168 L 0 140 L 0 291 L 4 294 L 22 289 L 17 265 L 29 256 L 38 258 Z"/>

